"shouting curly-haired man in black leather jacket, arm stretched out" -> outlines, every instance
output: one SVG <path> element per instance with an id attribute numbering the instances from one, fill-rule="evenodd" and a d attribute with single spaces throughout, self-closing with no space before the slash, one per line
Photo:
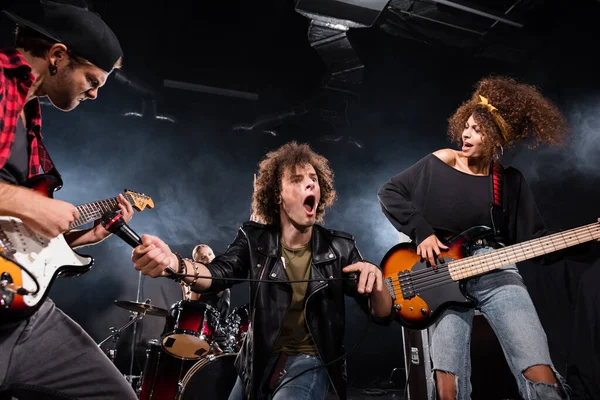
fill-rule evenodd
<path id="1" fill-rule="evenodd" d="M 352 235 L 316 224 L 334 199 L 327 159 L 291 142 L 259 165 L 252 212 L 264 224 L 245 223 L 224 254 L 208 264 L 193 262 L 148 235 L 134 250 L 142 273 L 165 276 L 171 267 L 195 274 L 184 282 L 198 292 L 220 292 L 236 283 L 232 278 L 252 279 L 237 382 L 230 394 L 231 387 L 221 388 L 230 399 L 323 399 L 329 383 L 345 399 L 344 295 L 376 322 L 391 322 L 392 298 L 383 290 L 381 270 L 362 260 Z M 350 273 L 357 284 L 340 279 Z"/>

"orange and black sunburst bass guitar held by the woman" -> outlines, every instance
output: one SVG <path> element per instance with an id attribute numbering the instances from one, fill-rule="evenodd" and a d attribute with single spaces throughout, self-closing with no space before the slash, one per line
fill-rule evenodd
<path id="1" fill-rule="evenodd" d="M 381 267 L 384 282 L 392 294 L 396 320 L 411 329 L 425 329 L 448 308 L 476 306 L 465 290 L 466 279 L 520 261 L 567 247 L 600 239 L 600 223 L 570 229 L 487 253 L 472 255 L 479 240 L 492 236 L 492 230 L 477 226 L 456 235 L 442 253 L 444 263 L 434 269 L 417 255 L 413 243 L 400 243 L 384 256 Z"/>

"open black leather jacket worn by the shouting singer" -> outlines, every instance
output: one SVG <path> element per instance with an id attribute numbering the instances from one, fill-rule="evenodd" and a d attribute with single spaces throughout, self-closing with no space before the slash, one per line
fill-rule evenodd
<path id="1" fill-rule="evenodd" d="M 348 233 L 314 225 L 312 238 L 311 279 L 340 278 L 342 268 L 362 260 L 354 237 Z M 255 222 L 245 223 L 227 251 L 209 265 L 216 278 L 260 279 L 268 282 L 287 280 L 281 261 L 279 228 Z M 210 292 L 232 286 L 234 281 L 213 280 Z M 352 296 L 365 311 L 369 298 L 356 291 L 351 281 L 309 282 L 306 291 L 305 318 L 321 361 L 325 364 L 344 353 L 344 295 Z M 250 283 L 251 325 L 236 359 L 236 369 L 245 388 L 245 397 L 256 399 L 267 362 L 277 341 L 292 300 L 289 283 Z M 375 319 L 387 324 L 392 320 Z M 346 398 L 345 359 L 327 367 L 329 381 L 340 399 Z"/>

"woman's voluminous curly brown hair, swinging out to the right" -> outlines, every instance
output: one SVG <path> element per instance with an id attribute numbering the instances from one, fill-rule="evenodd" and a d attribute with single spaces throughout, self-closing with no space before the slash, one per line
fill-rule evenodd
<path id="1" fill-rule="evenodd" d="M 480 95 L 486 97 L 507 122 L 506 138 L 490 110 L 478 104 Z M 483 134 L 491 139 L 484 141 L 490 157 L 499 146 L 507 148 L 526 138 L 532 139 L 530 148 L 541 143 L 561 145 L 569 133 L 566 118 L 535 86 L 508 77 L 492 76 L 477 82 L 471 98 L 448 119 L 448 136 L 452 142 L 460 145 L 465 123 L 471 115 L 482 127 Z"/>

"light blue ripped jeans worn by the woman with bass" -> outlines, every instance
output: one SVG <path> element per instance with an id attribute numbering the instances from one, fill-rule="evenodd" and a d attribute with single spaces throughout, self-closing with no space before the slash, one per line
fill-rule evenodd
<path id="1" fill-rule="evenodd" d="M 475 254 L 489 250 L 480 249 Z M 557 391 L 559 385 L 568 396 L 564 378 L 552 365 L 546 333 L 516 266 L 472 278 L 466 288 L 477 299 L 477 308 L 498 337 L 521 397 L 526 400 L 562 399 Z M 470 345 L 474 314 L 474 309 L 446 310 L 429 330 L 433 370 L 454 375 L 457 400 L 471 398 Z M 524 371 L 535 365 L 548 365 L 559 383 L 527 379 Z"/>

